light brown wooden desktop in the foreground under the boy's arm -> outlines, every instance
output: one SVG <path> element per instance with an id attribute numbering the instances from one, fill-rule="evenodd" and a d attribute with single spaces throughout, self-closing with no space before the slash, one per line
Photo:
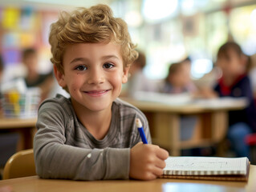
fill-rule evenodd
<path id="1" fill-rule="evenodd" d="M 112 181 L 70 181 L 59 179 L 40 179 L 37 176 L 14 178 L 0 181 L 0 188 L 10 186 L 15 192 L 55 192 L 55 191 L 90 191 L 90 192 L 177 192 L 177 191 L 221 191 L 252 192 L 256 189 L 256 166 L 250 166 L 248 182 L 217 182 L 181 179 L 156 179 L 153 181 L 112 180 Z M 0 190 L 1 191 L 1 190 Z"/>

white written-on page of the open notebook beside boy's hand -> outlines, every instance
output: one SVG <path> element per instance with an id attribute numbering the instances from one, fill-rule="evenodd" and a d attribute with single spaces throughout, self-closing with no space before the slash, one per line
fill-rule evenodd
<path id="1" fill-rule="evenodd" d="M 169 157 L 164 174 L 218 175 L 247 173 L 248 158 Z"/>

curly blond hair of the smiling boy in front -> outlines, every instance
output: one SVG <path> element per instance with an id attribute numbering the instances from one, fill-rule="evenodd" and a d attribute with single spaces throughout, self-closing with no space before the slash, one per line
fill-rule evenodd
<path id="1" fill-rule="evenodd" d="M 63 71 L 63 53 L 67 45 L 86 42 L 115 42 L 120 45 L 124 67 L 130 66 L 138 57 L 135 45 L 128 33 L 126 22 L 114 18 L 107 5 L 78 8 L 71 13 L 63 11 L 59 20 L 51 24 L 49 37 L 51 62 Z"/>

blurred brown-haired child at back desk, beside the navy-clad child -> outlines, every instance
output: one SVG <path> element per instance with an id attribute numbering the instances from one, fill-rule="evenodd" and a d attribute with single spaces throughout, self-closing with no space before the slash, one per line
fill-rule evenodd
<path id="1" fill-rule="evenodd" d="M 161 92 L 166 94 L 191 93 L 196 86 L 190 78 L 191 61 L 186 58 L 182 62 L 173 63 L 169 66 L 169 74 L 165 78 L 165 85 Z"/>

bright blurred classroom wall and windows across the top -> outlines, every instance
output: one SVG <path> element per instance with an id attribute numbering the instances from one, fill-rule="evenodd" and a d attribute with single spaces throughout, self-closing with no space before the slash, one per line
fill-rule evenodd
<path id="1" fill-rule="evenodd" d="M 229 38 L 246 54 L 256 53 L 254 0 L 8 0 L 0 2 L 0 53 L 5 67 L 21 75 L 16 68 L 22 50 L 33 47 L 39 51 L 39 72 L 51 71 L 48 34 L 59 10 L 98 3 L 108 4 L 116 17 L 128 23 L 133 42 L 147 56 L 148 78 L 165 78 L 169 63 L 188 55 L 192 77 L 201 78 L 212 70 L 217 49 Z"/>

